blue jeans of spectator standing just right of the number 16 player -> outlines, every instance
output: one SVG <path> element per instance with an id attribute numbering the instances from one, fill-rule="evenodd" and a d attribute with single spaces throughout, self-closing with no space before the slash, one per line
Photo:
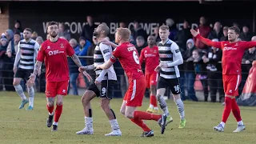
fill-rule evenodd
<path id="1" fill-rule="evenodd" d="M 185 72 L 185 85 L 188 97 L 192 101 L 198 101 L 198 98 L 195 96 L 194 92 L 194 81 L 195 81 L 195 74 L 194 72 Z"/>

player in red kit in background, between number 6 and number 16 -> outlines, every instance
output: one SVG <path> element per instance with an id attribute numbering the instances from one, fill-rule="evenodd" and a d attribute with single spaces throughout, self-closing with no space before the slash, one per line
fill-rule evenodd
<path id="1" fill-rule="evenodd" d="M 158 83 L 158 73 L 154 71 L 154 68 L 159 65 L 158 46 L 155 46 L 154 36 L 150 35 L 147 38 L 146 46 L 142 49 L 139 57 L 139 63 L 146 63 L 146 88 L 150 89 L 150 107 L 146 110 L 149 113 L 158 113 L 158 104 L 156 98 L 156 86 Z"/>

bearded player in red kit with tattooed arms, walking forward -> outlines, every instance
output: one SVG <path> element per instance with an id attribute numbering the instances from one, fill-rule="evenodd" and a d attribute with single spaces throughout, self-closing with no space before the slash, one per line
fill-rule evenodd
<path id="1" fill-rule="evenodd" d="M 34 66 L 34 73 L 30 75 L 30 82 L 34 83 L 36 75 L 45 61 L 46 65 L 46 100 L 49 117 L 46 125 L 51 127 L 52 131 L 58 130 L 58 120 L 62 114 L 63 97 L 66 96 L 69 83 L 69 69 L 67 66 L 67 57 L 70 56 L 73 61 L 81 67 L 82 64 L 70 43 L 66 39 L 58 38 L 58 23 L 49 22 L 47 33 L 50 39 L 42 43 L 38 51 L 37 62 Z M 90 75 L 84 74 L 89 78 Z M 56 110 L 54 112 L 54 98 L 57 96 Z M 53 122 L 54 118 L 54 122 Z"/>

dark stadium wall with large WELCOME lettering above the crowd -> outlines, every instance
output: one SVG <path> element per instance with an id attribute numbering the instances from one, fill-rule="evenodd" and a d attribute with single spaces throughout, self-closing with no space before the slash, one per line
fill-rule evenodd
<path id="1" fill-rule="evenodd" d="M 173 18 L 177 27 L 181 28 L 182 20 L 188 19 L 192 27 L 198 26 L 200 16 L 208 18 L 210 23 L 222 22 L 230 26 L 232 22 L 249 24 L 254 28 L 255 2 L 214 2 L 200 4 L 199 2 L 9 2 L 8 10 L 1 15 L 5 18 L 2 29 L 14 27 L 14 21 L 19 19 L 22 27 L 30 27 L 38 35 L 46 38 L 46 22 L 65 22 L 71 36 L 78 38 L 82 26 L 86 24 L 86 15 L 93 15 L 95 22 L 106 22 L 110 26 L 113 37 L 118 22 L 124 21 L 133 26 L 134 19 L 142 22 L 142 27 L 148 34 L 154 26 L 162 25 L 166 18 Z M 6 18 L 9 19 L 6 22 Z M 4 22 L 5 21 L 5 22 Z M 8 25 L 9 24 L 9 25 Z M 110 37 L 111 37 L 110 36 Z"/>

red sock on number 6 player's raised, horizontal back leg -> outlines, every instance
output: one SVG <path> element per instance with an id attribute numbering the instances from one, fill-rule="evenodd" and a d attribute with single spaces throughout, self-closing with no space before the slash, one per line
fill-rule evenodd
<path id="1" fill-rule="evenodd" d="M 134 119 L 158 121 L 160 118 L 162 118 L 161 115 L 149 114 L 149 113 L 142 112 L 142 111 L 134 111 Z"/>

